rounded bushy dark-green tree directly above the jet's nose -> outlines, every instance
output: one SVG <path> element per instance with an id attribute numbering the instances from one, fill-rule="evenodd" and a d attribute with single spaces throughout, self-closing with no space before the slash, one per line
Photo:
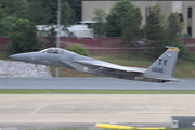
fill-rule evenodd
<path id="1" fill-rule="evenodd" d="M 9 35 L 6 51 L 9 54 L 38 51 L 43 40 L 37 38 L 37 29 L 28 20 L 18 20 Z"/>

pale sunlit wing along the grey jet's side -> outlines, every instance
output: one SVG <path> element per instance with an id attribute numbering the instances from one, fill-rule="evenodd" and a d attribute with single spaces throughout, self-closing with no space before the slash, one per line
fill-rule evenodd
<path id="1" fill-rule="evenodd" d="M 115 70 L 121 70 L 121 72 L 130 72 L 130 73 L 145 73 L 145 68 L 136 68 L 136 67 L 127 67 L 127 66 L 120 66 L 99 60 L 74 60 L 74 62 L 88 65 L 88 66 L 96 66 L 100 69 L 115 69 Z"/>

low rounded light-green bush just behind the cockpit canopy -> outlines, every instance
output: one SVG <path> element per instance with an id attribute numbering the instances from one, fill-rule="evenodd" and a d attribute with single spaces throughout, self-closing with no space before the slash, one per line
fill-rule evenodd
<path id="1" fill-rule="evenodd" d="M 90 53 L 88 52 L 87 48 L 80 46 L 80 44 L 74 44 L 74 46 L 67 46 L 67 50 L 76 52 L 80 55 L 88 56 Z"/>

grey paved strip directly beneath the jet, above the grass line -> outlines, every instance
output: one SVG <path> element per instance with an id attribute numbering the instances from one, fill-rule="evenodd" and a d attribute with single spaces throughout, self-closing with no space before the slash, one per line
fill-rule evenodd
<path id="1" fill-rule="evenodd" d="M 0 89 L 195 90 L 195 79 L 142 82 L 116 78 L 0 78 Z"/>

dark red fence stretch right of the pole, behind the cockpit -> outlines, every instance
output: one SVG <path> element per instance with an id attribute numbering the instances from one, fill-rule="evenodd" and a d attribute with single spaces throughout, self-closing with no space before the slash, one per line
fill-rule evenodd
<path id="1" fill-rule="evenodd" d="M 120 38 L 61 38 L 61 48 L 68 44 L 82 44 L 90 52 L 123 52 L 123 51 L 143 51 L 148 50 L 148 44 L 134 46 L 130 49 L 120 44 Z"/>

